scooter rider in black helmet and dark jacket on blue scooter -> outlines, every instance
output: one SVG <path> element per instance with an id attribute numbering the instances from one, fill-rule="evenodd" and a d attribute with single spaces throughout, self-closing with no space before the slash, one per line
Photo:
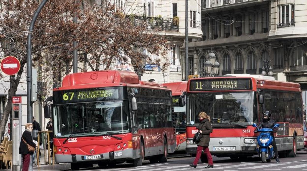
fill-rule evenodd
<path id="1" fill-rule="evenodd" d="M 270 111 L 265 111 L 262 115 L 262 122 L 259 123 L 259 125 L 257 126 L 257 130 L 260 128 L 272 128 L 274 125 L 276 125 L 276 121 L 274 119 L 271 119 L 271 112 Z M 274 131 L 277 131 L 278 128 L 274 128 Z M 275 153 L 275 157 L 276 157 L 276 162 L 280 162 L 279 158 L 278 158 L 278 151 L 277 151 L 277 146 L 276 146 L 276 142 L 275 142 L 275 137 L 274 134 L 272 133 L 271 135 L 273 137 L 273 141 L 272 141 L 272 146 L 274 148 L 274 153 Z"/>

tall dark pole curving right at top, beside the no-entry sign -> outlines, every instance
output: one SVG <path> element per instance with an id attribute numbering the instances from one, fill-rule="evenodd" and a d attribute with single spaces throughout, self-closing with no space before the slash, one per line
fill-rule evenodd
<path id="1" fill-rule="evenodd" d="M 32 101 L 31 101 L 31 87 L 32 87 L 32 42 L 31 42 L 31 38 L 32 38 L 32 31 L 34 28 L 34 24 L 35 21 L 39 15 L 39 13 L 41 12 L 41 9 L 43 9 L 43 7 L 45 6 L 45 4 L 47 3 L 48 0 L 43 0 L 41 2 L 41 4 L 38 6 L 38 8 L 36 9 L 33 18 L 31 20 L 30 23 L 30 27 L 29 27 L 29 31 L 28 31 L 28 36 L 27 36 L 27 122 L 28 123 L 32 123 L 32 117 L 33 117 L 33 113 L 32 113 Z M 33 135 L 32 135 L 33 138 Z M 32 157 L 33 154 L 30 156 L 30 165 L 29 165 L 29 170 L 33 171 L 33 161 L 32 161 Z"/>

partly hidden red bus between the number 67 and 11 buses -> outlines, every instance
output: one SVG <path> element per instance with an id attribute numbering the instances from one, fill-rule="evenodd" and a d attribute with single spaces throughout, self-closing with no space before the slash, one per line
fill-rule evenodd
<path id="1" fill-rule="evenodd" d="M 186 113 L 185 106 L 179 106 L 179 98 L 182 92 L 186 91 L 188 81 L 164 83 L 161 86 L 172 90 L 173 115 L 176 128 L 176 151 L 185 151 L 186 146 Z"/>

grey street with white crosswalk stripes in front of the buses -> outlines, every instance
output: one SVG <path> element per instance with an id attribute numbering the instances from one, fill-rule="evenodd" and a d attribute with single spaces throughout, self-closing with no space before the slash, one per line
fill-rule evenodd
<path id="1" fill-rule="evenodd" d="M 207 166 L 207 163 L 199 163 L 197 167 L 191 168 L 188 166 L 192 163 L 194 158 L 192 157 L 181 157 L 181 158 L 169 158 L 167 163 L 157 163 L 150 164 L 149 161 L 143 163 L 143 166 L 133 167 L 131 164 L 118 164 L 115 167 L 105 167 L 100 168 L 98 165 L 94 165 L 93 168 L 80 169 L 80 170 L 106 170 L 106 171 L 176 171 L 176 170 L 209 170 L 204 167 Z M 216 158 L 213 157 L 214 168 L 210 170 L 221 170 L 221 171 L 239 171 L 239 170 L 282 170 L 282 171 L 298 171 L 298 170 L 307 170 L 307 153 L 306 151 L 299 151 L 297 157 L 295 158 L 281 158 L 281 163 L 276 163 L 275 160 L 272 160 L 271 163 L 262 163 L 260 158 L 257 156 L 249 157 L 242 161 L 239 159 L 230 159 L 230 158 Z M 55 165 L 55 166 L 40 166 L 40 170 L 70 170 L 69 164 Z M 38 170 L 37 166 L 34 168 Z"/>

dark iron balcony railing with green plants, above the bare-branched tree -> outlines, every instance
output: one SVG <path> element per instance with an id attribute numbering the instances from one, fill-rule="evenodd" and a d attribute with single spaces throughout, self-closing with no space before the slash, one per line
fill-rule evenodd
<path id="1" fill-rule="evenodd" d="M 162 17 L 142 17 L 135 16 L 131 18 L 134 24 L 137 26 L 147 25 L 149 30 L 159 30 L 167 32 L 178 32 L 178 23 L 173 21 L 172 18 L 162 18 Z"/>

